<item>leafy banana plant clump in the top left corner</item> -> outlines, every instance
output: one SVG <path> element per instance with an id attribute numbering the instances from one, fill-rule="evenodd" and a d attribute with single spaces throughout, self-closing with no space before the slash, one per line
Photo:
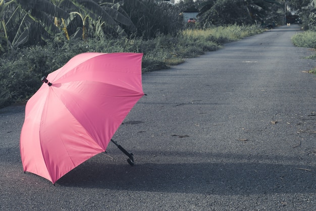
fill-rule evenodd
<path id="1" fill-rule="evenodd" d="M 6 32 L 5 36 L 0 36 L 2 53 L 24 44 L 36 45 L 41 37 L 60 32 L 51 16 L 66 18 L 69 14 L 49 0 L 2 0 L 0 16 L 3 18 L 0 31 Z"/>

